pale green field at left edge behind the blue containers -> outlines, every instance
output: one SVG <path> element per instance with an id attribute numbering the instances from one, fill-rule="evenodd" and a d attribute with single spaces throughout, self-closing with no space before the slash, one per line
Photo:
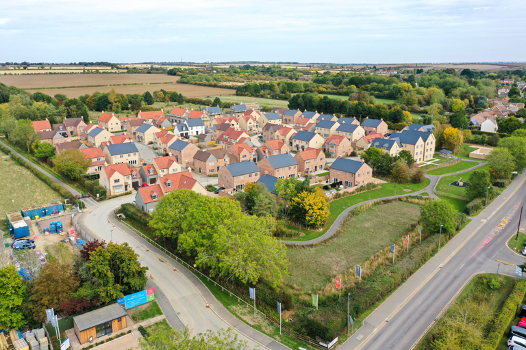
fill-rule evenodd
<path id="1" fill-rule="evenodd" d="M 57 192 L 10 158 L 0 159 L 0 176 L 9 179 L 9 185 L 0 190 L 1 215 L 12 211 L 13 208 L 42 204 L 60 198 Z"/>

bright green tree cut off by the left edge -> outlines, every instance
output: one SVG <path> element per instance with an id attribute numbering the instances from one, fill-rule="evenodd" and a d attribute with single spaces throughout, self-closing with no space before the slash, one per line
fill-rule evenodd
<path id="1" fill-rule="evenodd" d="M 25 324 L 20 306 L 26 288 L 14 266 L 0 267 L 0 328 L 18 329 Z"/>

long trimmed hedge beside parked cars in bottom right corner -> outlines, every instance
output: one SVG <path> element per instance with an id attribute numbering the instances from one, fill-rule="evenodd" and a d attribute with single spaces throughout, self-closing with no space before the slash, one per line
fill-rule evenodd
<path id="1" fill-rule="evenodd" d="M 513 287 L 512 293 L 506 299 L 501 311 L 495 317 L 494 324 L 488 334 L 488 343 L 492 349 L 497 349 L 499 342 L 501 342 L 508 325 L 515 319 L 517 311 L 517 304 L 521 304 L 526 295 L 526 281 L 518 280 Z"/>

